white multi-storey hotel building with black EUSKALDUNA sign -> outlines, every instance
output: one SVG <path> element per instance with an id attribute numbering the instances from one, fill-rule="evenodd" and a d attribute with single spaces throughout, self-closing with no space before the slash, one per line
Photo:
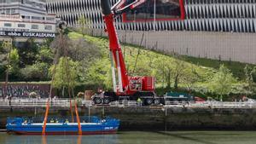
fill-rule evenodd
<path id="1" fill-rule="evenodd" d="M 56 22 L 45 0 L 0 0 L 2 37 L 55 37 Z"/>

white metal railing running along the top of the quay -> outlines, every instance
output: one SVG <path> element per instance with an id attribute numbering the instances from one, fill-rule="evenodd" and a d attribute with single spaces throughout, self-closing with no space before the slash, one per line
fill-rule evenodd
<path id="1" fill-rule="evenodd" d="M 0 107 L 46 107 L 48 99 L 1 99 Z M 51 99 L 50 107 L 70 107 L 71 99 Z M 74 100 L 72 100 L 74 101 Z M 137 101 L 113 101 L 109 104 L 95 105 L 93 101 L 76 100 L 79 107 L 144 107 Z M 73 102 L 72 102 L 73 103 Z M 74 105 L 74 103 L 73 103 Z M 201 107 L 201 108 L 256 108 L 256 101 L 229 102 L 229 101 L 204 101 L 204 102 L 174 102 L 166 101 L 160 107 Z"/>

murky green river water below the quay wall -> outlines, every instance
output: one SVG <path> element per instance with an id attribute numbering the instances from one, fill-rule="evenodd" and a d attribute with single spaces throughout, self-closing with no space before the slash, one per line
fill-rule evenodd
<path id="1" fill-rule="evenodd" d="M 117 135 L 8 135 L 0 144 L 255 144 L 256 131 L 119 132 Z"/>

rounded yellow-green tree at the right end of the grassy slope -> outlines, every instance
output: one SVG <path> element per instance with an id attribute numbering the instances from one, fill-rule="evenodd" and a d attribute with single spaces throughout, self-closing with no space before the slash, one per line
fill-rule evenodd
<path id="1" fill-rule="evenodd" d="M 236 78 L 233 77 L 230 70 L 224 65 L 221 65 L 219 66 L 218 72 L 216 72 L 211 79 L 210 89 L 216 94 L 220 95 L 219 100 L 222 101 L 223 95 L 230 94 L 232 84 L 235 82 Z"/>

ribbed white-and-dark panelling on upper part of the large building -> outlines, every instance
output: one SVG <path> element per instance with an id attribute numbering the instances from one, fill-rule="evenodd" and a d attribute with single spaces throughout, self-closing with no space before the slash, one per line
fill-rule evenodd
<path id="1" fill-rule="evenodd" d="M 116 3 L 117 0 L 111 0 Z M 184 0 L 185 20 L 126 22 L 116 20 L 119 30 L 256 32 L 256 0 Z M 84 15 L 92 28 L 104 27 L 100 0 L 47 0 L 49 13 L 58 14 L 69 26 Z"/>

